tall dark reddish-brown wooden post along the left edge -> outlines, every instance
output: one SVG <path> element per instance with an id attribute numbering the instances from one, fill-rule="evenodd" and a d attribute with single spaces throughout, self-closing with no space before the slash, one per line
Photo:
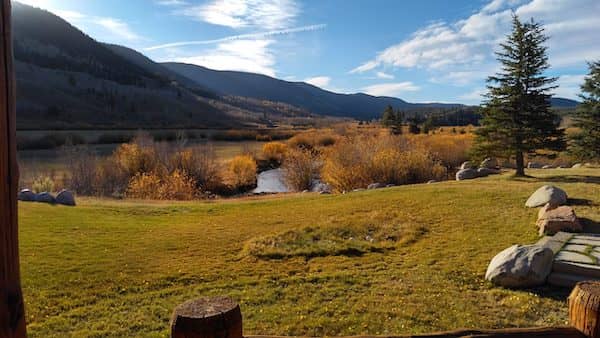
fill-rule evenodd
<path id="1" fill-rule="evenodd" d="M 0 337 L 25 337 L 19 280 L 15 80 L 10 0 L 0 0 Z"/>

